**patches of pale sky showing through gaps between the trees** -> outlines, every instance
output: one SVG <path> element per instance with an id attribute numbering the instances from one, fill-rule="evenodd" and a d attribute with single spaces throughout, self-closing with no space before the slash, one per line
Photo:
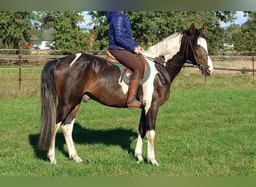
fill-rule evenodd
<path id="1" fill-rule="evenodd" d="M 89 22 L 91 22 L 91 16 L 89 16 L 87 14 L 88 12 L 83 12 L 82 15 L 84 16 L 85 22 L 81 22 L 79 24 L 80 27 L 82 28 L 93 28 L 93 25 L 88 25 Z M 239 24 L 242 25 L 244 22 L 247 21 L 248 17 L 243 16 L 243 11 L 237 11 L 236 14 L 237 19 L 234 20 L 234 24 Z M 221 22 L 221 26 L 223 28 L 228 27 L 229 25 L 231 25 L 232 22 Z"/>

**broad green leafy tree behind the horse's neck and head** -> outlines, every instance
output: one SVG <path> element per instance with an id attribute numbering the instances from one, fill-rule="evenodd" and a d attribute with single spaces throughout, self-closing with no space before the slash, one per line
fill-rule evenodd
<path id="1" fill-rule="evenodd" d="M 132 12 L 131 13 L 134 37 L 141 43 L 157 43 L 174 32 L 186 30 L 195 23 L 201 28 L 207 25 L 206 37 L 211 54 L 216 54 L 222 48 L 222 28 L 219 21 L 234 19 L 234 12 L 210 11 L 170 11 L 170 12 Z M 136 15 L 138 14 L 138 15 Z M 135 15 L 135 19 L 133 18 Z M 140 36 L 143 36 L 140 38 Z M 213 47 L 214 46 L 214 47 Z"/>

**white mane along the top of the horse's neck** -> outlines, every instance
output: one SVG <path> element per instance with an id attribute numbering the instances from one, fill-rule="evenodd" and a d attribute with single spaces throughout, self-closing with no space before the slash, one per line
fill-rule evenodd
<path id="1" fill-rule="evenodd" d="M 154 46 L 150 46 L 143 54 L 148 55 L 151 58 L 164 56 L 165 61 L 172 58 L 180 50 L 180 42 L 183 33 L 174 33 L 171 36 L 166 37 Z"/>

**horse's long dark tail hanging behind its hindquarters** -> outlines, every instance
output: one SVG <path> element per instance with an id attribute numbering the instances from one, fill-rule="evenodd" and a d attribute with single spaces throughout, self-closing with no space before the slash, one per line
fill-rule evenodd
<path id="1" fill-rule="evenodd" d="M 37 147 L 48 151 L 55 133 L 56 123 L 56 91 L 54 69 L 57 60 L 49 61 L 41 73 L 41 131 Z"/>

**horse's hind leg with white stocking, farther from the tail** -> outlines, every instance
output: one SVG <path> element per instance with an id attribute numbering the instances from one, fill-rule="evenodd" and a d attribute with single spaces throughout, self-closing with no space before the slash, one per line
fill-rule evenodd
<path id="1" fill-rule="evenodd" d="M 72 138 L 73 125 L 75 123 L 76 112 L 79 109 L 79 105 L 76 105 L 76 108 L 68 115 L 65 124 L 61 126 L 61 129 L 64 132 L 64 138 L 67 144 L 67 150 L 70 159 L 74 159 L 76 162 L 82 162 L 82 159 L 77 155 L 76 148 Z"/>

